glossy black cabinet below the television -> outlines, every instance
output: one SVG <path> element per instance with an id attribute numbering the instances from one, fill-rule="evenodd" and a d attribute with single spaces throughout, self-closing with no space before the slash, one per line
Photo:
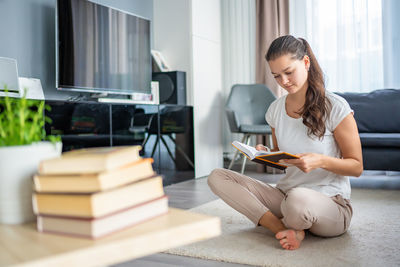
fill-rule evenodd
<path id="1" fill-rule="evenodd" d="M 63 151 L 141 145 L 164 185 L 194 178 L 193 107 L 46 101 L 47 134 L 61 135 Z"/>

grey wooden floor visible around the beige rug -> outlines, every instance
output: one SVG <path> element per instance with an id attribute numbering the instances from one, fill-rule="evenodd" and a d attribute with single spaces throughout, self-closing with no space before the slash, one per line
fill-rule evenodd
<path id="1" fill-rule="evenodd" d="M 238 169 L 238 168 L 237 168 Z M 251 168 L 250 168 L 251 169 Z M 275 183 L 282 174 L 257 173 L 254 169 L 245 173 L 264 182 Z M 400 189 L 400 172 L 366 171 L 360 178 L 351 178 L 352 187 Z M 175 208 L 190 209 L 209 201 L 217 199 L 207 185 L 205 177 L 181 182 L 165 187 L 169 196 L 169 205 Z M 190 257 L 175 256 L 158 253 L 133 261 L 115 265 L 117 267 L 172 267 L 172 266 L 247 266 L 242 264 L 224 263 L 210 260 L 202 260 Z"/>

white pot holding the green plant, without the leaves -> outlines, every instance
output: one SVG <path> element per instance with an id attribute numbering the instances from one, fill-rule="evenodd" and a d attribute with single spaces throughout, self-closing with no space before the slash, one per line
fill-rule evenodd
<path id="1" fill-rule="evenodd" d="M 0 147 L 0 223 L 33 221 L 32 176 L 39 162 L 60 156 L 62 143 Z"/>

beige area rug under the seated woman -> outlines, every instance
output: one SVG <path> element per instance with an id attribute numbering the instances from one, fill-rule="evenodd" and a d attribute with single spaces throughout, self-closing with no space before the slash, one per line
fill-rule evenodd
<path id="1" fill-rule="evenodd" d="M 268 230 L 215 200 L 191 210 L 219 216 L 222 235 L 166 253 L 257 266 L 400 266 L 400 191 L 354 189 L 352 205 L 347 233 L 308 234 L 300 249 L 286 251 Z"/>

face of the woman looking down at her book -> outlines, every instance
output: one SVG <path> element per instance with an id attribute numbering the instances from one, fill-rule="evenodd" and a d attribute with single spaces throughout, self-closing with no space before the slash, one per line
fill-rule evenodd
<path id="1" fill-rule="evenodd" d="M 308 56 L 298 60 L 292 59 L 291 55 L 287 54 L 268 61 L 268 64 L 277 83 L 289 94 L 307 89 L 308 69 L 310 67 Z"/>

